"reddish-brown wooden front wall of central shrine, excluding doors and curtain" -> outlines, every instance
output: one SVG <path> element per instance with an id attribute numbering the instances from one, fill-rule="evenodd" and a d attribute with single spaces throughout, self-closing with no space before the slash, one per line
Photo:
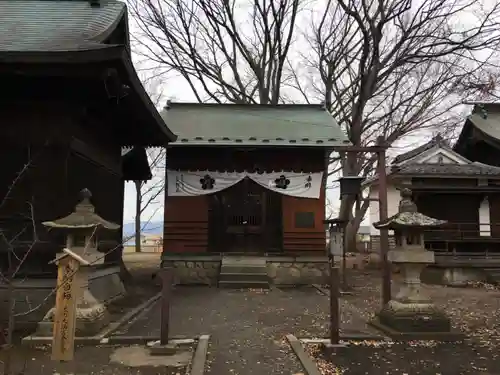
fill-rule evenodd
<path id="1" fill-rule="evenodd" d="M 325 170 L 326 153 L 316 148 L 249 147 L 171 147 L 167 149 L 168 168 L 176 170 L 319 172 Z M 272 251 L 325 252 L 326 234 L 324 191 L 319 199 L 301 199 L 282 195 L 283 229 L 273 242 Z M 282 202 L 282 203 L 281 203 Z M 313 212 L 312 228 L 297 228 L 297 212 Z M 170 253 L 208 251 L 208 197 L 168 197 L 165 204 L 164 251 Z M 189 227 L 189 229 L 183 229 Z M 271 235 L 271 234 L 270 234 Z M 275 243 L 279 242 L 279 243 Z M 213 246 L 213 245 L 212 245 Z M 225 252 L 226 245 L 215 245 Z M 219 248 L 220 247 L 220 248 Z M 262 251 L 266 251 L 263 249 Z"/>

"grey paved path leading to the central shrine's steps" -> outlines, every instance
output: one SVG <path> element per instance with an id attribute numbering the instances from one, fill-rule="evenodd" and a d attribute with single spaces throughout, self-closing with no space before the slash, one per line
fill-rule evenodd
<path id="1" fill-rule="evenodd" d="M 360 331 L 365 321 L 342 304 L 343 331 Z M 315 288 L 226 290 L 178 287 L 171 310 L 171 335 L 209 334 L 207 374 L 295 374 L 302 372 L 285 335 L 326 337 L 328 298 Z M 366 328 L 367 329 L 367 328 Z M 159 336 L 160 304 L 119 334 Z"/>

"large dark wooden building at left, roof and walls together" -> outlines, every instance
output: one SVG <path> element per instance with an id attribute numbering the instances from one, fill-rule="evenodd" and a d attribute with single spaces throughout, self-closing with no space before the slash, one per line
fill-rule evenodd
<path id="1" fill-rule="evenodd" d="M 44 298 L 63 243 L 40 223 L 68 215 L 88 188 L 97 212 L 121 224 L 124 181 L 150 176 L 144 147 L 175 136 L 134 70 L 120 1 L 0 1 L 0 81 L 0 265 L 23 259 L 17 276 L 33 289 L 21 294 Z M 121 230 L 100 240 L 116 264 Z"/>

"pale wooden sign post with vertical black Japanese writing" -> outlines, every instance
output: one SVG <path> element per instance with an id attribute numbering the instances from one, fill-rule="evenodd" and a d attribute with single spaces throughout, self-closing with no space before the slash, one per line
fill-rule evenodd
<path id="1" fill-rule="evenodd" d="M 64 256 L 57 262 L 57 293 L 54 314 L 52 359 L 71 361 L 75 352 L 76 303 L 80 262 Z"/>

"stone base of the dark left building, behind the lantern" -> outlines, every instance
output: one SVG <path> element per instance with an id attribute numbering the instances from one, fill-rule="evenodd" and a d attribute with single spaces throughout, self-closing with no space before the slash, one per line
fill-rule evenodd
<path id="1" fill-rule="evenodd" d="M 125 287 L 120 280 L 120 268 L 99 267 L 92 271 L 89 277 L 89 288 L 93 295 L 102 303 L 109 303 L 113 299 L 125 294 Z M 45 314 L 54 307 L 55 293 L 50 293 L 56 287 L 54 279 L 26 279 L 15 282 L 15 313 L 22 314 L 16 317 L 16 330 L 31 330 L 36 328 Z M 50 295 L 50 296 L 49 296 Z M 0 284 L 0 319 L 7 319 L 7 286 Z M 28 314 L 25 314 L 28 312 Z"/>

